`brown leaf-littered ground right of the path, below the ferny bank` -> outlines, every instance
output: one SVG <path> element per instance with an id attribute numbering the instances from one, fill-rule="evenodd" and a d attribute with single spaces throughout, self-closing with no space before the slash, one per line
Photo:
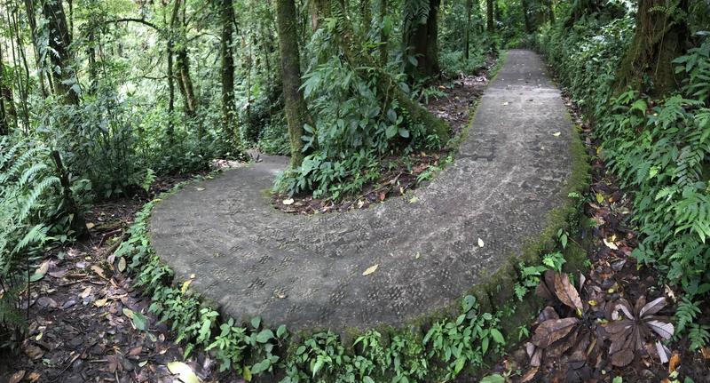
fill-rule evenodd
<path id="1" fill-rule="evenodd" d="M 580 241 L 585 243 L 588 251 L 587 267 L 581 270 L 586 283 L 580 288 L 580 297 L 586 308 L 583 317 L 588 318 L 589 328 L 596 334 L 588 334 L 588 338 L 574 334 L 576 339 L 572 336 L 569 341 L 558 344 L 558 349 L 546 349 L 541 355 L 533 354 L 529 336 L 519 337 L 519 346 L 496 363 L 491 373 L 501 374 L 507 377 L 507 381 L 515 383 L 688 382 L 685 378 L 694 383 L 710 382 L 710 348 L 690 351 L 685 338 L 668 345 L 665 350 L 667 363 L 660 362 L 659 351 L 651 342 L 644 344 L 643 349 L 634 350 L 633 360 L 624 367 L 615 367 L 612 362 L 616 356 L 604 352 L 608 347 L 602 347 L 603 343 L 609 339 L 605 339 L 608 334 L 601 323 L 604 319 L 611 320 L 611 311 L 619 298 L 634 305 L 635 302 L 651 302 L 664 297 L 668 305 L 659 315 L 668 317 L 675 312 L 676 297 L 670 286 L 659 283 L 654 269 L 637 264 L 631 256 L 638 245 L 638 233 L 632 221 L 632 197 L 629 191 L 619 187 L 619 180 L 611 175 L 599 156 L 601 143 L 593 139 L 592 128 L 582 121 L 579 109 L 568 97 L 564 97 L 564 101 L 575 124 L 581 127 L 592 173 L 591 186 L 584 199 L 588 222 L 582 222 L 580 235 Z M 710 315 L 710 307 L 706 305 L 705 309 L 703 315 Z M 528 328 L 534 329 L 548 319 L 548 314 L 549 311 L 540 312 L 538 320 Z M 587 345 L 584 355 L 563 355 L 570 354 L 563 348 L 572 347 L 574 342 Z M 537 363 L 532 363 L 535 358 Z"/>

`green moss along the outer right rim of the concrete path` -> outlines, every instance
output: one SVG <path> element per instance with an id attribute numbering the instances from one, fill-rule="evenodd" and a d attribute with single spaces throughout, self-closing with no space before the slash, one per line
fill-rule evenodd
<path id="1" fill-rule="evenodd" d="M 473 121 L 473 117 L 471 118 Z M 525 299 L 519 301 L 514 296 L 514 286 L 519 280 L 517 265 L 524 262 L 529 265 L 540 264 L 540 255 L 555 251 L 557 248 L 557 232 L 559 229 L 564 229 L 567 232 L 574 233 L 574 225 L 580 222 L 580 201 L 571 196 L 573 192 L 579 195 L 588 188 L 589 184 L 589 166 L 588 159 L 585 153 L 585 148 L 580 140 L 579 132 L 572 128 L 572 141 L 570 151 L 572 154 L 572 172 L 566 181 L 564 188 L 564 203 L 552 211 L 548 212 L 545 218 L 545 228 L 539 235 L 529 238 L 525 241 L 521 251 L 510 254 L 509 257 L 498 267 L 493 275 L 480 275 L 483 283 L 477 283 L 469 288 L 467 294 L 477 298 L 478 312 L 499 313 L 496 317 L 501 318 L 501 323 L 498 327 L 505 335 L 506 339 L 517 339 L 517 329 L 521 325 L 531 323 L 534 315 L 537 315 L 540 309 L 540 302 L 537 299 Z M 168 195 L 175 193 L 177 189 L 182 188 L 185 184 L 181 184 L 174 188 Z M 156 200 L 160 201 L 160 200 Z M 586 251 L 577 242 L 571 241 L 564 251 L 567 264 L 565 270 L 568 272 L 577 271 L 583 260 L 586 259 Z M 462 297 L 461 297 L 462 298 Z M 216 302 L 202 299 L 202 304 L 209 307 L 216 307 Z M 376 328 L 383 334 L 383 342 L 389 342 L 389 339 L 395 336 L 401 336 L 406 339 L 416 339 L 417 344 L 422 346 L 422 337 L 429 331 L 433 323 L 438 321 L 453 321 L 457 315 L 461 314 L 461 299 L 456 299 L 446 307 L 430 310 L 427 313 L 419 315 L 411 320 L 406 321 L 400 326 L 382 325 Z M 225 316 L 222 316 L 225 318 Z M 322 328 L 304 329 L 296 331 L 291 335 L 288 344 L 282 345 L 282 359 L 288 359 L 289 355 L 295 355 L 295 346 L 303 340 L 309 339 L 313 334 L 320 331 L 327 331 Z M 340 343 L 345 347 L 347 354 L 355 354 L 355 349 L 352 347 L 354 339 L 367 332 L 367 329 L 349 328 L 341 331 Z M 508 347 L 512 347 L 514 342 L 509 341 Z M 423 346 L 422 346 L 423 347 Z M 426 355 L 416 357 L 426 357 L 430 363 L 430 372 L 432 375 L 438 376 L 446 368 L 445 364 Z M 496 358 L 493 353 L 488 353 L 486 359 L 492 362 Z M 246 362 L 246 361 L 245 361 Z M 283 371 L 277 373 L 282 375 Z M 469 369 L 464 374 L 475 376 L 476 371 Z M 428 375 L 428 379 L 431 375 Z M 268 378 L 265 378 L 268 379 Z"/>

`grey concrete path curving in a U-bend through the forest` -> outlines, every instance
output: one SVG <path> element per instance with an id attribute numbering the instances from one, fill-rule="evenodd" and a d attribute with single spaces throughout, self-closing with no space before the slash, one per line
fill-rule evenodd
<path id="1" fill-rule="evenodd" d="M 540 233 L 564 202 L 571 134 L 540 59 L 513 50 L 455 163 L 429 186 L 366 210 L 288 215 L 264 197 L 287 160 L 266 157 L 157 205 L 153 245 L 237 318 L 292 330 L 398 325 L 460 298 Z"/>

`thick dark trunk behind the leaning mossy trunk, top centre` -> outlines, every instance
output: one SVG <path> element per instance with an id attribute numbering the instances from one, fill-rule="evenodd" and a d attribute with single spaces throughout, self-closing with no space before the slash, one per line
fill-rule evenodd
<path id="1" fill-rule="evenodd" d="M 406 72 L 411 79 L 436 76 L 438 66 L 438 7 L 441 0 L 429 0 L 429 14 L 424 20 L 406 20 L 402 35 L 405 52 L 416 58 L 416 66 L 406 61 Z M 408 21 L 408 22 L 407 22 Z"/>

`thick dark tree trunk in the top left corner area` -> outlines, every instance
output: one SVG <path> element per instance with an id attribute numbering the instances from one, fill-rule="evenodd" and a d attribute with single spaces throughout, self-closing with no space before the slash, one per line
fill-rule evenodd
<path id="1" fill-rule="evenodd" d="M 69 66 L 71 60 L 69 45 L 72 42 L 62 0 L 44 1 L 42 12 L 48 21 L 49 47 L 53 50 L 47 55 L 50 57 L 52 67 L 59 70 L 58 77 L 54 81 L 54 92 L 68 105 L 79 105 L 79 95 L 72 89 L 72 86 L 78 83 L 74 69 Z M 52 73 L 56 74 L 56 71 Z"/>

